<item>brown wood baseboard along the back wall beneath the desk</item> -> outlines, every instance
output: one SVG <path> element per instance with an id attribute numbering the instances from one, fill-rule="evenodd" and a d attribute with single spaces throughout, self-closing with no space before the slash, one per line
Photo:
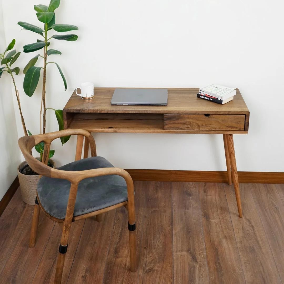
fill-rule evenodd
<path id="1" fill-rule="evenodd" d="M 133 180 L 227 182 L 227 172 L 126 169 Z M 238 172 L 239 183 L 284 183 L 283 172 Z"/>

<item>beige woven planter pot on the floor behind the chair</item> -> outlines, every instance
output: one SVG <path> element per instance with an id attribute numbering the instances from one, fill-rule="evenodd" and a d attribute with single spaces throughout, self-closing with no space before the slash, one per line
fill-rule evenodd
<path id="1" fill-rule="evenodd" d="M 37 158 L 39 159 L 39 158 Z M 49 159 L 49 162 L 53 165 L 53 168 L 55 168 L 55 162 L 51 159 Z M 21 189 L 21 195 L 22 199 L 25 203 L 34 205 L 36 200 L 36 187 L 37 183 L 39 181 L 39 176 L 28 176 L 21 173 L 21 170 L 27 165 L 27 162 L 24 161 L 18 166 L 18 177 L 20 182 L 20 189 Z"/>

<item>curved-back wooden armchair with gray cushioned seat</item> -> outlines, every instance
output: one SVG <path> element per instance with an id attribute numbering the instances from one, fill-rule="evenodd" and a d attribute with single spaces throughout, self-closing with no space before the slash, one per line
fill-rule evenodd
<path id="1" fill-rule="evenodd" d="M 62 166 L 59 169 L 47 166 L 51 142 L 56 138 L 67 135 L 78 135 L 76 149 L 77 161 Z M 86 153 L 90 146 L 91 158 L 80 160 L 84 136 L 84 156 L 87 156 Z M 45 143 L 43 162 L 30 155 L 32 148 L 41 141 Z M 59 244 L 54 283 L 61 282 L 72 222 L 91 216 L 97 216 L 98 221 L 101 213 L 121 206 L 125 206 L 128 210 L 130 270 L 135 272 L 137 269 L 137 259 L 135 248 L 134 189 L 133 181 L 128 172 L 120 168 L 114 168 L 104 158 L 97 157 L 93 136 L 88 131 L 82 129 L 67 129 L 40 135 L 24 136 L 19 139 L 18 144 L 29 166 L 43 176 L 37 185 L 37 197 L 32 219 L 29 247 L 34 247 L 36 243 L 40 210 L 43 210 L 51 220 L 62 225 L 62 236 Z M 55 197 L 56 200 L 49 201 L 49 198 L 54 199 Z M 88 203 L 86 206 L 84 205 L 84 201 Z M 93 205 L 90 204 L 91 201 Z"/>

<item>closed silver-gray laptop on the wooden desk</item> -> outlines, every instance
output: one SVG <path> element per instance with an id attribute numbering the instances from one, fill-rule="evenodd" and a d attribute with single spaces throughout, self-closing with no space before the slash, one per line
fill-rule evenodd
<path id="1" fill-rule="evenodd" d="M 168 103 L 168 89 L 118 88 L 114 90 L 112 105 L 154 105 L 164 106 Z"/>

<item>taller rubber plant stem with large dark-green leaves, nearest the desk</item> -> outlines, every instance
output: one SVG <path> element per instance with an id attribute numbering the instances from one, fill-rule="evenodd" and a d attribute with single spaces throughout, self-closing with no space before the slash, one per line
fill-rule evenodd
<path id="1" fill-rule="evenodd" d="M 63 72 L 59 65 L 53 61 L 47 61 L 49 56 L 53 55 L 60 55 L 61 52 L 55 49 L 49 49 L 49 45 L 51 40 L 66 40 L 66 41 L 75 41 L 78 39 L 78 36 L 75 34 L 55 34 L 48 37 L 49 31 L 55 32 L 69 32 L 72 30 L 78 30 L 77 26 L 67 25 L 67 24 L 55 24 L 55 9 L 59 7 L 60 0 L 51 0 L 49 6 L 46 5 L 34 5 L 34 10 L 36 11 L 36 16 L 39 22 L 43 23 L 43 29 L 35 26 L 33 24 L 29 24 L 27 22 L 18 22 L 24 30 L 29 30 L 31 32 L 36 33 L 37 35 L 41 36 L 42 39 L 37 39 L 35 43 L 30 43 L 24 45 L 24 52 L 30 53 L 37 50 L 43 50 L 43 54 L 37 54 L 34 56 L 26 65 L 23 72 L 25 74 L 24 77 L 24 92 L 29 97 L 32 97 L 34 91 L 36 90 L 37 84 L 39 82 L 39 77 L 41 75 L 41 69 L 43 70 L 43 83 L 42 83 L 42 94 L 41 94 L 41 106 L 40 106 L 40 133 L 45 133 L 46 130 L 46 110 L 51 109 L 55 111 L 55 115 L 59 124 L 59 130 L 63 130 L 63 113 L 60 109 L 53 109 L 53 108 L 46 108 L 45 98 L 46 98 L 46 68 L 47 64 L 55 64 L 59 70 L 59 73 L 62 77 L 64 88 L 66 91 L 67 83 L 66 79 L 63 75 Z M 43 59 L 43 66 L 35 66 L 37 63 L 38 58 Z M 43 112 L 42 112 L 43 111 Z M 60 137 L 62 145 L 69 140 L 70 136 Z"/>

